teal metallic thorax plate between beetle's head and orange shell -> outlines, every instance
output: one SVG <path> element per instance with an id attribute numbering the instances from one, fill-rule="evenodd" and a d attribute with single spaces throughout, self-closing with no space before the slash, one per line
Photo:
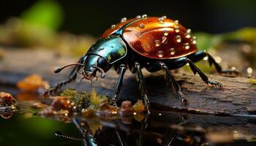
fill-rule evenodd
<path id="1" fill-rule="evenodd" d="M 124 58 L 127 55 L 127 46 L 119 36 L 110 35 L 99 39 L 90 47 L 86 55 L 94 54 L 105 58 L 109 64 Z"/>

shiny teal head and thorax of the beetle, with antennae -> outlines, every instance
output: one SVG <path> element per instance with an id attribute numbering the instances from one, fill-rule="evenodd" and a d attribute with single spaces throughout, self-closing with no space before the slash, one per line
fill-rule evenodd
<path id="1" fill-rule="evenodd" d="M 61 72 L 62 69 L 67 66 L 83 66 L 82 72 L 76 72 L 83 75 L 83 79 L 92 80 L 97 77 L 97 72 L 100 73 L 100 77 L 105 77 L 107 72 L 113 64 L 120 61 L 127 55 L 127 47 L 124 41 L 119 36 L 111 35 L 99 39 L 94 45 L 90 47 L 86 55 L 83 55 L 77 64 L 68 64 L 55 70 L 56 73 Z"/>

